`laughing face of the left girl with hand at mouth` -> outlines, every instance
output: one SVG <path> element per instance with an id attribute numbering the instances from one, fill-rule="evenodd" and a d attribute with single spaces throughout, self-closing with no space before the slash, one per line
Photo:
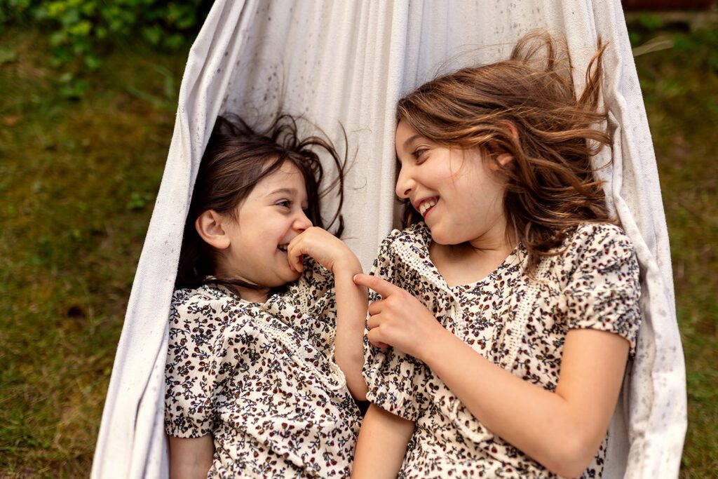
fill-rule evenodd
<path id="1" fill-rule="evenodd" d="M 230 246 L 218 261 L 218 272 L 268 289 L 298 279 L 286 246 L 312 226 L 304 214 L 307 188 L 299 169 L 285 162 L 260 180 L 238 208 L 237 220 L 225 223 Z"/>

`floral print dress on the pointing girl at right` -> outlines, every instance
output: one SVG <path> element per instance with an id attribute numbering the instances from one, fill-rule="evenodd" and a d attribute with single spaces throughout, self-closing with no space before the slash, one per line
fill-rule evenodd
<path id="1" fill-rule="evenodd" d="M 393 231 L 373 274 L 414 294 L 443 327 L 524 381 L 555 391 L 572 328 L 621 335 L 633 357 L 640 326 L 638 261 L 617 226 L 579 226 L 562 254 L 541 261 L 536 279 L 523 273 L 526 250 L 519 244 L 485 279 L 457 287 L 448 287 L 432 264 L 430 242 L 424 223 Z M 367 399 L 415 422 L 399 477 L 556 477 L 485 429 L 424 363 L 391 348 L 365 348 Z M 606 444 L 583 478 L 601 477 Z"/>

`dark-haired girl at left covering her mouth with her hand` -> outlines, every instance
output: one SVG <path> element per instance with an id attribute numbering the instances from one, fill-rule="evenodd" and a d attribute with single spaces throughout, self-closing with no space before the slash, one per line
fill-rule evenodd
<path id="1" fill-rule="evenodd" d="M 218 118 L 202 157 L 169 318 L 170 475 L 346 477 L 364 399 L 362 271 L 322 228 L 316 149 L 281 116 Z M 341 218 L 337 214 L 341 230 Z"/>

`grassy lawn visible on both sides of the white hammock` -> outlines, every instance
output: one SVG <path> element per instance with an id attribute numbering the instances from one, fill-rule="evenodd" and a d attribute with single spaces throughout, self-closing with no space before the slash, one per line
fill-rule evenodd
<path id="1" fill-rule="evenodd" d="M 643 29 L 642 29 L 643 28 Z M 649 31 L 650 30 L 650 31 Z M 718 470 L 718 34 L 636 27 L 689 386 L 682 477 Z M 80 101 L 0 33 L 0 477 L 88 475 L 186 52 L 116 47 Z"/>

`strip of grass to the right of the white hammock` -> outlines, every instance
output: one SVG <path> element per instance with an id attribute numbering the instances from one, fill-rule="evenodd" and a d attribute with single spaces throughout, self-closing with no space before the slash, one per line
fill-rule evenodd
<path id="1" fill-rule="evenodd" d="M 718 30 L 668 35 L 673 47 L 636 58 L 661 177 L 686 356 L 689 429 L 683 478 L 718 470 Z"/>

